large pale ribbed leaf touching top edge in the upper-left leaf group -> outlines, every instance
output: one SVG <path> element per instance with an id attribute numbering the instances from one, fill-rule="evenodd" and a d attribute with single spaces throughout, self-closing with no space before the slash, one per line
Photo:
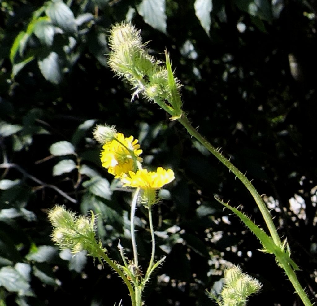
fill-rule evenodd
<path id="1" fill-rule="evenodd" d="M 77 32 L 77 24 L 71 9 L 62 1 L 55 0 L 46 8 L 45 13 L 52 20 L 55 26 L 60 27 L 65 32 Z"/>

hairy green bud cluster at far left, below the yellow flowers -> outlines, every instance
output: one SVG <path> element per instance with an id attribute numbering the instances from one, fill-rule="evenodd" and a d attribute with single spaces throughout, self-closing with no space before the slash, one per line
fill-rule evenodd
<path id="1" fill-rule="evenodd" d="M 93 254 L 96 249 L 95 216 L 77 217 L 64 206 L 56 205 L 49 211 L 48 218 L 53 225 L 52 240 L 61 249 L 70 249 L 72 253 L 86 250 Z"/>

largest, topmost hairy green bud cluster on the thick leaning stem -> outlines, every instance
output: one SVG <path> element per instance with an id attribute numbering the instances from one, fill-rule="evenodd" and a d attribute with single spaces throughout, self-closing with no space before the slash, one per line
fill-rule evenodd
<path id="1" fill-rule="evenodd" d="M 108 64 L 116 75 L 133 86 L 131 100 L 139 93 L 158 104 L 159 101 L 172 99 L 167 69 L 161 61 L 149 55 L 140 31 L 131 23 L 116 24 L 110 31 L 109 45 L 112 52 Z M 179 81 L 175 77 L 174 81 L 179 89 Z"/>

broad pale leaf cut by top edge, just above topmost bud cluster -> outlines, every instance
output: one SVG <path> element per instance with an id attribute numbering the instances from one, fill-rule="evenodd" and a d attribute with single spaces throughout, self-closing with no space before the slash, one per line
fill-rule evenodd
<path id="1" fill-rule="evenodd" d="M 137 10 L 147 24 L 166 33 L 165 0 L 142 0 Z"/>

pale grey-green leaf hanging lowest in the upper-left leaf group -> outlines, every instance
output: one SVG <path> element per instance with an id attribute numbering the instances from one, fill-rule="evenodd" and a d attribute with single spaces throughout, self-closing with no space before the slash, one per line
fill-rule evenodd
<path id="1" fill-rule="evenodd" d="M 38 60 L 39 68 L 44 78 L 53 84 L 58 84 L 62 79 L 59 56 L 56 52 L 51 52 L 47 57 Z"/>

